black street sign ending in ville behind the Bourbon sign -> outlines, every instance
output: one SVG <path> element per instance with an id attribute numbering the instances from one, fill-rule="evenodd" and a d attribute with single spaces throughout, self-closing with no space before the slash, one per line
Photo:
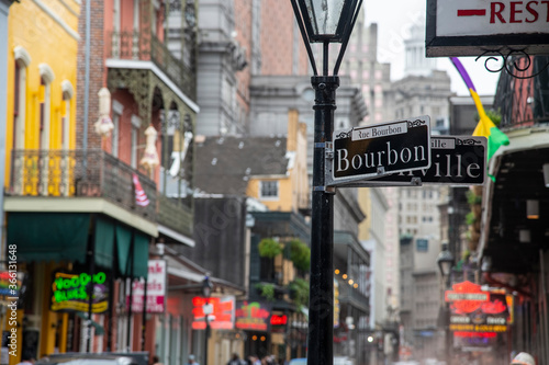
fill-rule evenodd
<path id="1" fill-rule="evenodd" d="M 430 168 L 369 180 L 371 185 L 482 185 L 486 178 L 486 138 L 432 136 Z"/>

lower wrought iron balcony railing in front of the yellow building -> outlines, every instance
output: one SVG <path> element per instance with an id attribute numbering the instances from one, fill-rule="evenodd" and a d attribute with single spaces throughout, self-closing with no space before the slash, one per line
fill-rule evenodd
<path id="1" fill-rule="evenodd" d="M 147 206 L 136 206 L 132 176 L 138 175 Z M 103 150 L 14 150 L 11 183 L 14 196 L 103 197 L 156 221 L 154 181 Z"/>

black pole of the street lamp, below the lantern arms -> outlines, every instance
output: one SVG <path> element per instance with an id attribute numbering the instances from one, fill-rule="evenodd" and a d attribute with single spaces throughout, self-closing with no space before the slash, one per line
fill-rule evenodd
<path id="1" fill-rule="evenodd" d="M 315 90 L 311 289 L 307 364 L 332 364 L 334 341 L 334 192 L 325 184 L 326 142 L 332 138 L 337 76 L 313 76 Z M 329 344 L 329 345 L 328 345 Z"/>

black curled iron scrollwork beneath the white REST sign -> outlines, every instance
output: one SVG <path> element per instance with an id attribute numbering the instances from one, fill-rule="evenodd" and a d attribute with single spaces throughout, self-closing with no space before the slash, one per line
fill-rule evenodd
<path id="1" fill-rule="evenodd" d="M 491 50 L 485 50 L 482 55 L 477 57 L 475 61 L 479 60 L 479 58 L 490 54 L 497 54 L 498 56 L 490 56 L 484 60 L 484 68 L 490 71 L 490 72 L 501 72 L 505 70 L 508 75 L 514 77 L 515 79 L 530 79 L 535 78 L 536 76 L 540 75 L 546 70 L 547 67 L 549 67 L 549 64 L 546 64 L 541 69 L 539 69 L 536 73 L 528 75 L 528 76 L 520 76 L 518 75 L 519 72 L 526 72 L 533 65 L 531 56 L 526 53 L 524 49 L 512 49 L 508 48 L 507 54 L 505 55 L 501 49 L 491 49 Z M 500 60 L 497 57 L 502 57 Z M 520 62 L 519 60 L 525 59 L 525 62 Z M 502 66 L 497 68 L 493 68 L 489 66 L 489 62 L 491 61 L 501 61 Z"/>

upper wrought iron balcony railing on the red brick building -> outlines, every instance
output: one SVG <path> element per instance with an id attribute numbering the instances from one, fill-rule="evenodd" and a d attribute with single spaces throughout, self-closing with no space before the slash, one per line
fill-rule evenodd
<path id="1" fill-rule="evenodd" d="M 197 100 L 197 78 L 190 65 L 176 58 L 150 32 L 112 32 L 109 58 L 153 61 L 181 91 Z"/>

